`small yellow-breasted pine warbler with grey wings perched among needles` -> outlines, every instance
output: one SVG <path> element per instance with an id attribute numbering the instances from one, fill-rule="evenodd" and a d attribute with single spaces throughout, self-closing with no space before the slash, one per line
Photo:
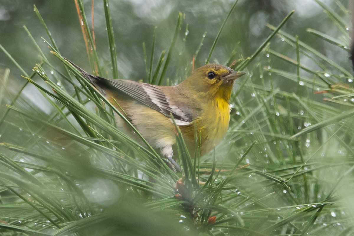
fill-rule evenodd
<path id="1" fill-rule="evenodd" d="M 232 87 L 235 79 L 245 74 L 222 65 L 207 64 L 176 86 L 157 86 L 131 80 L 108 80 L 73 65 L 113 105 L 115 99 L 138 132 L 150 145 L 160 149 L 178 170 L 172 158 L 176 137 L 171 114 L 189 152 L 192 154 L 195 149 L 195 127 L 201 135 L 201 154 L 209 152 L 227 131 Z M 116 120 L 118 126 L 128 128 L 118 115 Z"/>

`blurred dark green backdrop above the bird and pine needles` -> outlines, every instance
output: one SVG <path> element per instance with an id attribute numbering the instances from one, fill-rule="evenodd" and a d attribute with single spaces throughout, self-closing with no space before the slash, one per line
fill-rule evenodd
<path id="1" fill-rule="evenodd" d="M 91 24 L 91 1 L 84 2 L 86 15 L 89 24 Z M 326 0 L 322 2 L 333 7 L 334 10 L 338 8 L 335 1 Z M 344 6 L 348 5 L 348 1 L 342 0 L 340 2 Z M 1 1 L 1 45 L 23 68 L 30 70 L 35 63 L 39 62 L 39 58 L 34 56 L 38 53 L 23 29 L 23 25 L 25 25 L 38 44 L 46 47 L 46 44 L 40 38 L 41 36 L 46 38 L 46 33 L 33 12 L 33 4 L 37 6 L 44 18 L 63 56 L 85 68 L 88 63 L 87 53 L 74 1 Z M 176 68 L 178 68 L 176 63 L 192 61 L 202 35 L 207 32 L 204 45 L 201 47 L 196 61 L 196 67 L 203 65 L 210 46 L 232 4 L 233 1 L 136 0 L 110 2 L 118 52 L 118 66 L 122 77 L 134 80 L 145 77 L 142 43 L 145 42 L 149 55 L 154 27 L 157 26 L 157 53 L 155 58 L 157 59 L 159 52 L 167 50 L 170 45 L 178 12 L 185 14 L 182 28 L 188 23 L 188 37 L 183 51 L 182 39 L 184 35 L 179 35 L 181 40 L 178 41 L 179 47 L 175 50 L 175 56 L 173 57 L 175 62 L 171 63 L 172 66 L 169 69 L 168 76 L 172 77 L 175 73 Z M 339 31 L 331 23 L 331 19 L 323 13 L 323 9 L 314 0 L 239 1 L 222 31 L 211 61 L 225 63 L 230 52 L 237 44 L 239 44 L 237 50 L 240 55 L 243 57 L 250 56 L 271 33 L 271 30 L 265 24 L 279 24 L 292 10 L 295 10 L 295 13 L 283 30 L 292 35 L 299 35 L 299 39 L 324 53 L 330 59 L 336 59 L 338 64 L 343 67 L 350 69 L 347 60 L 348 54 L 345 51 L 306 33 L 306 28 L 315 28 L 334 38 L 339 34 Z M 110 59 L 105 28 L 102 2 L 95 1 L 96 45 L 102 65 L 107 64 Z M 275 47 L 286 56 L 295 58 L 295 51 L 285 43 L 277 42 L 277 40 L 280 41 L 280 39 L 273 40 L 275 41 L 273 42 L 276 45 Z M 174 65 L 176 65 L 176 68 L 173 68 Z M 285 66 L 288 65 L 285 63 L 279 64 L 279 68 Z M 19 77 L 21 72 L 13 66 L 4 53 L 0 54 L 0 67 L 1 69 L 10 68 L 11 77 L 17 78 L 16 84 L 23 83 L 23 80 Z M 10 81 L 12 83 L 13 79 Z M 281 81 L 276 82 L 281 84 Z"/>

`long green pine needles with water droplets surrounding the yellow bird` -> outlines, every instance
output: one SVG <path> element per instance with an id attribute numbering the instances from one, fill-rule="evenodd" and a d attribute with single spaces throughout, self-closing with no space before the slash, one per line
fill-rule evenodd
<path id="1" fill-rule="evenodd" d="M 308 33 L 348 51 L 348 26 L 341 17 L 348 12 L 339 5 L 343 12 L 338 14 L 317 2 L 342 34 L 334 39 L 315 29 Z M 91 69 L 103 75 L 108 68 L 99 65 L 94 25 L 87 23 L 83 2 L 75 3 Z M 118 79 L 114 25 L 108 1 L 103 4 L 112 76 Z M 227 65 L 249 76 L 233 93 L 229 132 L 214 151 L 191 159 L 199 157 L 200 147 L 188 153 L 176 127 L 182 167 L 177 174 L 143 137 L 137 142 L 117 129 L 114 114 L 119 112 L 65 61 L 36 7 L 35 13 L 54 56 L 45 56 L 27 28 L 41 55 L 31 73 L 0 48 L 27 79 L 23 88 L 33 84 L 55 111 L 34 116 L 18 107 L 22 88 L 1 115 L 0 127 L 18 128 L 12 135 L 26 140 L 1 143 L 1 235 L 353 235 L 353 73 L 281 30 L 293 12 L 278 26 L 268 24 L 272 33 L 252 55 L 238 60 L 237 52 L 230 54 Z M 180 13 L 170 47 L 157 62 L 158 31 L 152 33 L 151 55 L 143 44 L 145 82 L 176 82 L 166 79 L 166 71 L 176 42 L 185 43 L 181 34 L 188 35 L 188 24 L 181 30 L 183 21 Z M 290 45 L 295 57 L 276 50 L 279 44 Z M 58 60 L 63 68 L 53 64 Z M 185 67 L 193 69 L 189 62 Z M 276 76 L 296 90 L 274 87 Z"/>

